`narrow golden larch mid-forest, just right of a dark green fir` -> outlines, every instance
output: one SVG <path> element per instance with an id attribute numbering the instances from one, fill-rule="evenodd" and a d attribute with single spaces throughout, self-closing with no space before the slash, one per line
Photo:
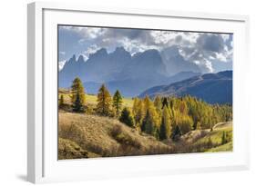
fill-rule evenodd
<path id="1" fill-rule="evenodd" d="M 171 133 L 171 123 L 169 118 L 169 110 L 167 106 L 164 106 L 162 121 L 160 125 L 159 139 L 164 140 L 168 139 Z"/>

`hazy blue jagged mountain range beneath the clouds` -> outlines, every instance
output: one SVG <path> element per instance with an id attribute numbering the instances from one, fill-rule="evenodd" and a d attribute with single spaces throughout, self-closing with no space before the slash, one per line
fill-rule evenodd
<path id="1" fill-rule="evenodd" d="M 199 75 L 200 68 L 186 61 L 177 47 L 164 51 L 151 49 L 130 54 L 123 47 L 112 53 L 105 48 L 89 54 L 87 61 L 82 55 L 73 55 L 58 74 L 59 87 L 68 88 L 79 77 L 87 93 L 97 93 L 105 83 L 111 93 L 117 89 L 126 97 L 138 96 L 150 87 L 174 83 Z"/>

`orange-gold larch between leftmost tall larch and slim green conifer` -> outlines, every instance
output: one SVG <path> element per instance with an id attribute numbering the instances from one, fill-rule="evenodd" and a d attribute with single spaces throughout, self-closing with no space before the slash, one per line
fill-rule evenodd
<path id="1" fill-rule="evenodd" d="M 102 84 L 97 93 L 97 113 L 104 116 L 112 114 L 112 98 L 107 87 Z"/>

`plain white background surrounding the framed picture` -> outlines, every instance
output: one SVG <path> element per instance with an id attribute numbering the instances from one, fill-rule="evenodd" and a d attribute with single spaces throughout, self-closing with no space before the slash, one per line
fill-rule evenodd
<path id="1" fill-rule="evenodd" d="M 26 182 L 26 4 L 27 0 L 2 0 L 0 5 L 0 185 Z M 76 2 L 76 0 L 72 0 Z M 125 180 L 61 183 L 60 185 L 255 185 L 256 179 L 256 11 L 252 0 L 84 0 L 89 5 L 170 9 L 250 15 L 251 65 L 251 171 L 170 175 Z M 241 62 L 244 63 L 244 62 Z M 242 109 L 242 108 L 241 108 Z M 169 165 L 171 166 L 171 165 Z M 135 165 L 136 169 L 136 165 Z"/>

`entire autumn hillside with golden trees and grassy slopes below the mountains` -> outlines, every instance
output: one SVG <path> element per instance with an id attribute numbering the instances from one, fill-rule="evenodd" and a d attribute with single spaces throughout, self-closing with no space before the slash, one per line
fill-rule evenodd
<path id="1" fill-rule="evenodd" d="M 85 90 L 79 78 L 59 89 L 59 159 L 232 150 L 229 104 Z"/>

